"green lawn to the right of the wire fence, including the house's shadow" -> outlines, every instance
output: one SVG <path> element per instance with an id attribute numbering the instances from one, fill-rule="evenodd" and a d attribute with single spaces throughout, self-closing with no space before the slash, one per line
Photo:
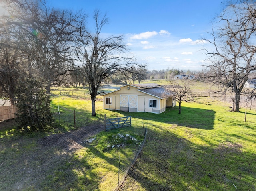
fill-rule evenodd
<path id="1" fill-rule="evenodd" d="M 206 104 L 211 105 L 206 105 Z M 256 189 L 255 112 L 202 99 L 163 114 L 148 114 L 148 140 L 122 190 Z M 138 114 L 134 114 L 138 115 Z"/>

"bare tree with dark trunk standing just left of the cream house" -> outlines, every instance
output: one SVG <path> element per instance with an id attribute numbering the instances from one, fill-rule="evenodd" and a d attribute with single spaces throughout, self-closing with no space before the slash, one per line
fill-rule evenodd
<path id="1" fill-rule="evenodd" d="M 86 28 L 80 33 L 77 60 L 84 65 L 92 101 L 92 116 L 96 116 L 95 101 L 102 81 L 110 75 L 125 71 L 134 64 L 134 59 L 126 56 L 128 49 L 123 44 L 122 35 L 103 37 L 102 28 L 108 23 L 106 15 L 94 12 L 95 32 Z"/>

